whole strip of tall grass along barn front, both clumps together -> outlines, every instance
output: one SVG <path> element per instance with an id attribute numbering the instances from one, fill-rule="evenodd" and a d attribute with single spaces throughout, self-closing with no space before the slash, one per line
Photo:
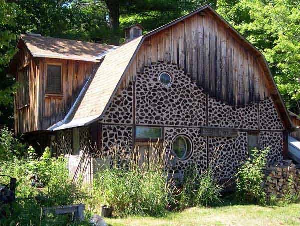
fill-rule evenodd
<path id="1" fill-rule="evenodd" d="M 105 167 L 94 178 L 93 196 L 121 217 L 159 216 L 167 209 L 220 202 L 222 186 L 214 180 L 213 170 L 190 168 L 183 183 L 177 183 L 169 173 L 174 155 L 166 147 L 166 142 L 149 142 L 143 156 L 138 147 L 130 151 L 112 145 L 107 151 L 97 151 L 98 157 L 105 159 Z"/>

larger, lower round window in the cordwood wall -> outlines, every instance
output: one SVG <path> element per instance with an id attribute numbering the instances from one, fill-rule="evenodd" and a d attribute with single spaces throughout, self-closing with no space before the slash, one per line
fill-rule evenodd
<path id="1" fill-rule="evenodd" d="M 172 151 L 179 159 L 187 158 L 191 153 L 191 149 L 191 140 L 187 136 L 179 135 L 172 142 Z"/>

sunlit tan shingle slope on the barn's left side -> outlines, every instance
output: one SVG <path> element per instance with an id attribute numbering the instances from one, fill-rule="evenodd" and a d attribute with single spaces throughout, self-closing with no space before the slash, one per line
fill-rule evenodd
<path id="1" fill-rule="evenodd" d="M 51 126 L 49 130 L 59 130 L 82 126 L 102 115 L 107 103 L 113 98 L 118 84 L 121 83 L 135 51 L 141 44 L 142 36 L 134 39 L 105 55 L 101 65 L 87 81 L 87 88 L 78 97 L 77 106 L 69 112 L 63 124 Z"/>

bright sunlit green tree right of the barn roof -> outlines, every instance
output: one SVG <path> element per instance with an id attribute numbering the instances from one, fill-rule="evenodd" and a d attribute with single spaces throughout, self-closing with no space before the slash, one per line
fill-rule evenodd
<path id="1" fill-rule="evenodd" d="M 219 0 L 217 11 L 265 55 L 287 108 L 299 114 L 299 2 Z"/>

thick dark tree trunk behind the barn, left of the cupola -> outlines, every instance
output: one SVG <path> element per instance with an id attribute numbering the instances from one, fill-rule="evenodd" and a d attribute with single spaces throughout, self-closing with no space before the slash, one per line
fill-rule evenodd
<path id="1" fill-rule="evenodd" d="M 119 0 L 105 0 L 109 10 L 110 26 L 113 33 L 114 44 L 119 44 L 119 28 L 120 28 L 120 3 Z"/>

